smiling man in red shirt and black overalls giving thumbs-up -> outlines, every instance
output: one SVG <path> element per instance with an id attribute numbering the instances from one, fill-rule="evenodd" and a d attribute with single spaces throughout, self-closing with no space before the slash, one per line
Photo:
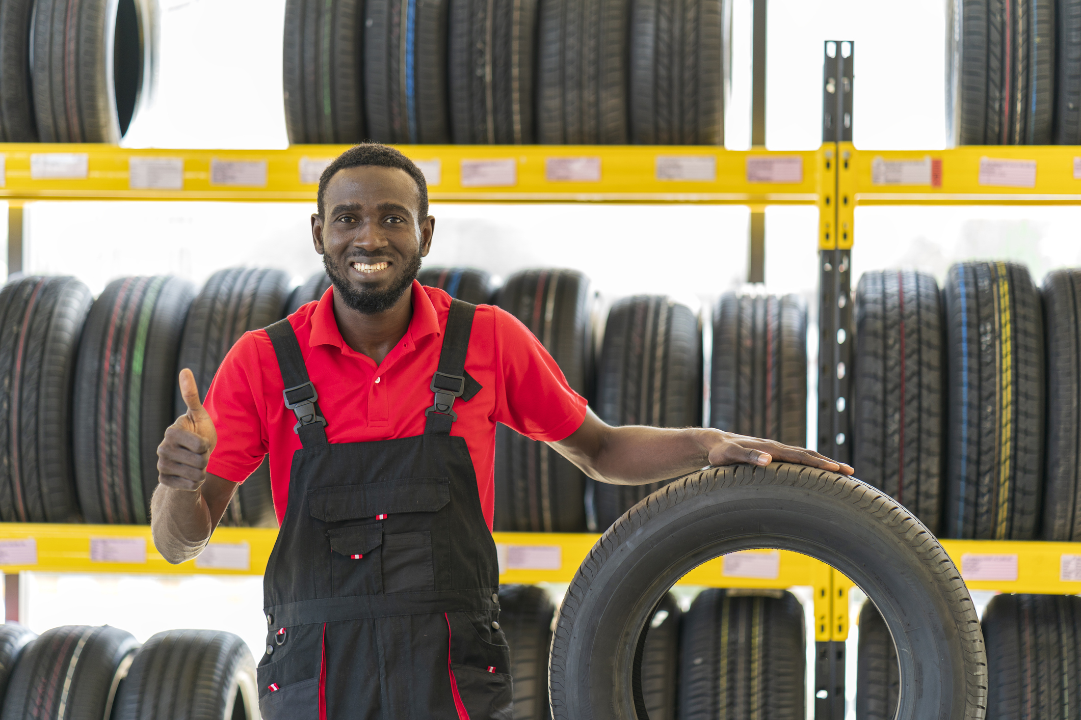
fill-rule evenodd
<path id="1" fill-rule="evenodd" d="M 333 288 L 244 335 L 205 407 L 181 372 L 188 411 L 158 449 L 152 500 L 158 549 L 190 559 L 269 453 L 281 529 L 265 576 L 265 720 L 509 719 L 496 422 L 604 483 L 774 459 L 852 472 L 717 430 L 605 425 L 511 315 L 416 282 L 436 220 L 397 150 L 346 151 L 318 200 L 312 241 Z"/>

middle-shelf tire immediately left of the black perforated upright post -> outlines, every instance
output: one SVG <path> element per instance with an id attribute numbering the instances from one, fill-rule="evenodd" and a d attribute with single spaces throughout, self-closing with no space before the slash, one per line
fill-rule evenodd
<path id="1" fill-rule="evenodd" d="M 803 447 L 808 311 L 796 295 L 725 293 L 713 310 L 710 424 Z"/>

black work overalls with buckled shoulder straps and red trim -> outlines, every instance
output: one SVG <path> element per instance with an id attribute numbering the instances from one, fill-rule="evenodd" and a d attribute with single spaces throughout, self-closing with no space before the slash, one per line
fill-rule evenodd
<path id="1" fill-rule="evenodd" d="M 264 580 L 264 720 L 510 720 L 495 543 L 450 435 L 454 398 L 480 390 L 475 310 L 451 303 L 435 405 L 399 408 L 427 413 L 424 435 L 373 443 L 326 441 L 292 326 L 267 328 L 303 447 Z"/>

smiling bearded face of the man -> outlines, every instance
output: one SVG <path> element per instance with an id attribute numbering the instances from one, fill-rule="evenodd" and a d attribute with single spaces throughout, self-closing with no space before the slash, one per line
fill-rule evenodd
<path id="1" fill-rule="evenodd" d="M 397 167 L 338 171 L 326 186 L 325 217 L 311 216 L 316 252 L 342 300 L 365 314 L 391 308 L 431 247 L 435 218 L 417 218 L 419 192 Z"/>

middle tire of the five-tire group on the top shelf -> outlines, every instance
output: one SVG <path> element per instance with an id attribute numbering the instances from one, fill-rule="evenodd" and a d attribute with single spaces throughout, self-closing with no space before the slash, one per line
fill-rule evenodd
<path id="1" fill-rule="evenodd" d="M 450 4 L 448 71 L 454 141 L 532 145 L 537 0 L 450 0 Z"/>

